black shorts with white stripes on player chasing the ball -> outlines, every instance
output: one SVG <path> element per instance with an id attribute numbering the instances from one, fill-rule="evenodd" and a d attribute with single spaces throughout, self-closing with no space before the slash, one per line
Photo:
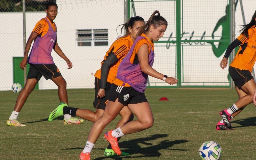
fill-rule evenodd
<path id="1" fill-rule="evenodd" d="M 124 87 L 112 84 L 109 91 L 108 100 L 115 102 L 117 98 L 118 102 L 125 106 L 128 104 L 137 104 L 148 101 L 144 93 L 138 92 L 132 87 Z"/>

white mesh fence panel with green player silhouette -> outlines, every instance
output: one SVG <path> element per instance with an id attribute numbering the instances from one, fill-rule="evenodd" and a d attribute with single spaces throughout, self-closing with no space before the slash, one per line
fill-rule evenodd
<path id="1" fill-rule="evenodd" d="M 181 44 L 182 49 L 182 85 L 229 85 L 228 70 L 220 70 L 221 56 L 229 44 L 228 1 L 183 0 L 182 3 L 182 39 L 204 40 Z M 224 17 L 225 16 L 225 17 Z M 223 18 L 224 17 L 224 18 Z M 218 28 L 225 24 L 225 35 Z M 227 42 L 209 42 L 207 40 L 226 40 Z M 225 45 L 225 46 L 224 46 Z M 214 50 L 214 48 L 216 48 Z M 225 48 L 220 51 L 221 48 Z M 219 84 L 220 83 L 220 84 Z"/>

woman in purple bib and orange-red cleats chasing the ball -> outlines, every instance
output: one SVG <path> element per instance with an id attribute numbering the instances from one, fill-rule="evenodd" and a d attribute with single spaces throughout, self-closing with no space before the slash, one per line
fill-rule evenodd
<path id="1" fill-rule="evenodd" d="M 157 13 L 157 15 L 155 15 Z M 109 91 L 108 103 L 103 115 L 93 124 L 80 159 L 90 159 L 91 150 L 104 128 L 127 106 L 138 120 L 130 121 L 116 130 L 105 133 L 116 154 L 121 151 L 117 139 L 123 135 L 140 132 L 153 125 L 154 118 L 145 97 L 148 75 L 161 79 L 168 84 L 176 84 L 177 79 L 167 77 L 152 68 L 154 62 L 154 43 L 163 37 L 167 21 L 158 11 L 153 12 L 145 26 L 139 28 L 130 52 L 121 62 L 116 79 Z"/>

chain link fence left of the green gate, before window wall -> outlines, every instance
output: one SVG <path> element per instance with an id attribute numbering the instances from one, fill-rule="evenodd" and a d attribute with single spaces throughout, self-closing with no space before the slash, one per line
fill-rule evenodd
<path id="1" fill-rule="evenodd" d="M 36 23 L 46 17 L 44 10 L 47 2 L 46 0 L 26 1 L 26 41 Z M 54 2 L 58 5 L 58 15 L 54 20 L 57 26 L 58 44 L 73 63 L 73 68 L 67 69 L 66 62 L 54 51 L 52 51 L 53 61 L 67 81 L 67 88 L 93 88 L 94 73 L 100 69 L 100 62 L 104 59 L 106 51 L 118 36 L 116 27 L 124 24 L 124 1 L 56 0 Z M 20 83 L 24 86 L 23 70 L 19 68 L 24 51 L 22 0 L 1 0 L 0 19 L 6 22 L 0 24 L 2 28 L 0 90 L 11 90 L 12 83 Z M 46 81 L 42 77 L 37 88 L 57 89 L 57 86 L 51 80 Z"/>

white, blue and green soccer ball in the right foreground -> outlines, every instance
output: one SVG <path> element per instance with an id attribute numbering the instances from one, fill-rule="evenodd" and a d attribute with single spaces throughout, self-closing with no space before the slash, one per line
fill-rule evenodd
<path id="1" fill-rule="evenodd" d="M 220 159 L 221 156 L 220 145 L 213 141 L 204 142 L 199 148 L 199 156 L 202 160 Z"/>

